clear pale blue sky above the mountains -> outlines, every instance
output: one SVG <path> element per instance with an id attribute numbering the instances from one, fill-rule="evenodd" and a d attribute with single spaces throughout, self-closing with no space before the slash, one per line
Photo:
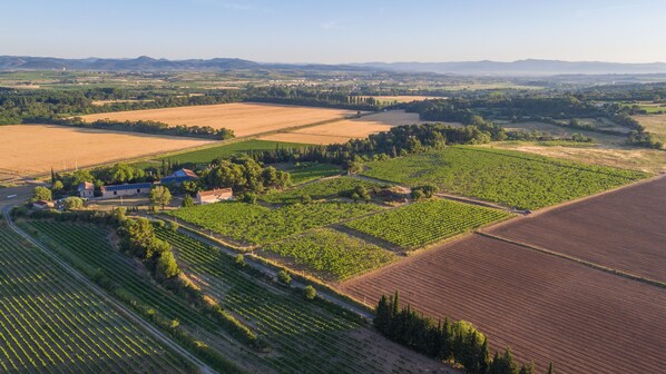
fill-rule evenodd
<path id="1" fill-rule="evenodd" d="M 666 62 L 665 0 L 0 0 L 0 56 Z"/>

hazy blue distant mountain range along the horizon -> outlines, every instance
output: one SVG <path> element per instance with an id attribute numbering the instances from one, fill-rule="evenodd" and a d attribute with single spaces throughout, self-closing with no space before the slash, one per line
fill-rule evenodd
<path id="1" fill-rule="evenodd" d="M 51 57 L 0 56 L 0 70 L 98 70 L 98 71 L 176 71 L 176 70 L 384 70 L 435 72 L 461 76 L 556 76 L 556 75 L 639 75 L 666 73 L 666 63 L 617 63 L 596 61 L 519 60 L 513 62 L 364 62 L 347 65 L 261 63 L 235 58 L 208 60 L 167 60 L 141 56 L 135 59 L 62 59 Z"/>

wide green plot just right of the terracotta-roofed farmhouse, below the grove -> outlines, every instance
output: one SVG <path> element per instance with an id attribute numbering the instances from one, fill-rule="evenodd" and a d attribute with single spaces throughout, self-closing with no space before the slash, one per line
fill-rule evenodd
<path id="1" fill-rule="evenodd" d="M 245 203 L 217 203 L 169 214 L 234 240 L 266 244 L 380 209 L 363 203 L 292 204 L 277 209 Z"/>

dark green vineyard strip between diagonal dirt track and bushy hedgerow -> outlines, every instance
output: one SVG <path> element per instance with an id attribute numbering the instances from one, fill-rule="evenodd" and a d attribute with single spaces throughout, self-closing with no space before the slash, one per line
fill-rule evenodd
<path id="1" fill-rule="evenodd" d="M 110 246 L 107 230 L 96 226 L 42 220 L 26 223 L 25 226 L 31 232 L 37 230 L 38 238 L 45 245 L 56 250 L 68 263 L 85 269 L 88 276 L 96 273 L 97 276 L 105 276 L 118 285 L 124 297 L 134 301 L 127 302 L 129 305 L 143 305 L 150 308 L 156 316 L 178 321 L 178 328 L 193 334 L 224 356 L 235 358 L 241 354 L 233 351 L 226 337 L 219 335 L 223 327 L 217 322 L 141 276 L 136 263 Z M 210 363 L 209 357 L 202 358 Z M 229 373 L 237 372 L 228 362 L 224 366 Z"/>

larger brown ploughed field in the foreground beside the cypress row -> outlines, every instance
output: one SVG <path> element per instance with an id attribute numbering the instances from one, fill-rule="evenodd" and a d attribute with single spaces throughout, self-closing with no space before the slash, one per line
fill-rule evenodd
<path id="1" fill-rule="evenodd" d="M 340 288 L 359 299 L 398 289 L 404 305 L 470 321 L 539 371 L 658 373 L 666 358 L 663 288 L 480 235 Z"/>

